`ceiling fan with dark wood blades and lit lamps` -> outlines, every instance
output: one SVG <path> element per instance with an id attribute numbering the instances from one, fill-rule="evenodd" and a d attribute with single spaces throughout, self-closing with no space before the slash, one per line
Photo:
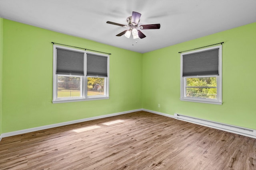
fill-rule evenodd
<path id="1" fill-rule="evenodd" d="M 156 23 L 156 24 L 148 24 L 148 25 L 140 25 L 138 26 L 138 23 L 140 21 L 140 16 L 141 14 L 138 12 L 132 12 L 132 16 L 129 16 L 126 20 L 128 25 L 124 25 L 124 24 L 120 24 L 120 23 L 115 23 L 115 22 L 111 22 L 111 21 L 107 21 L 107 23 L 113 24 L 113 25 L 118 25 L 121 27 L 127 27 L 129 29 L 119 33 L 116 36 L 122 36 L 124 35 L 127 38 L 130 38 L 130 35 L 132 34 L 133 39 L 136 38 L 145 38 L 146 35 L 144 35 L 144 33 L 142 33 L 139 29 L 160 29 L 160 23 Z"/>

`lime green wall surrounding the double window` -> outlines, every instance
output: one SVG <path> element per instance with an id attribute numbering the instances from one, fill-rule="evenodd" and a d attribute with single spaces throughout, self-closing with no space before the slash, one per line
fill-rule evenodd
<path id="1" fill-rule="evenodd" d="M 10 20 L 4 23 L 2 133 L 142 108 L 142 54 Z M 110 55 L 110 99 L 52 104 L 51 42 Z"/>

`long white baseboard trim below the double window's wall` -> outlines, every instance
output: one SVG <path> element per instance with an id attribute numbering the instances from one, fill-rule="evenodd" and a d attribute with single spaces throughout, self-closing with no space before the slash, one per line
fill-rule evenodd
<path id="1" fill-rule="evenodd" d="M 2 133 L 0 135 L 0 141 L 1 141 L 2 137 L 10 137 L 10 136 L 14 136 L 14 135 L 21 135 L 21 134 L 24 134 L 24 133 L 30 133 L 30 132 L 34 132 L 34 131 L 40 131 L 40 130 L 50 129 L 50 128 L 53 128 L 53 127 L 60 127 L 60 126 L 64 126 L 64 125 L 71 125 L 71 124 L 74 124 L 74 123 L 80 123 L 80 122 L 84 122 L 84 121 L 102 119 L 102 118 L 112 117 L 112 116 L 116 116 L 116 115 L 123 115 L 123 114 L 126 114 L 126 113 L 132 113 L 132 112 L 136 112 L 136 111 L 142 111 L 142 109 L 122 111 L 122 112 L 119 112 L 119 113 L 112 113 L 112 114 L 108 114 L 108 115 L 89 117 L 89 118 L 85 118 L 85 119 L 78 119 L 78 120 L 74 120 L 74 121 L 67 121 L 67 122 L 56 123 L 56 124 L 52 124 L 52 125 L 34 127 L 34 128 L 30 128 L 30 129 L 24 129 L 24 130 L 20 130 L 20 131 Z"/>

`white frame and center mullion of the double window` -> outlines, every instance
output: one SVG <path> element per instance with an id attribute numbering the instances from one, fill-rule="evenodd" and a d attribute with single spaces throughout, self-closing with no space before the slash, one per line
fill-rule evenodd
<path id="1" fill-rule="evenodd" d="M 81 77 L 81 93 L 82 97 L 70 97 L 70 98 L 58 98 L 57 93 L 58 93 L 58 74 L 56 74 L 56 48 L 60 49 L 67 49 L 71 51 L 78 51 L 84 53 L 84 76 L 80 75 L 70 75 L 70 76 L 76 76 L 76 77 Z M 93 55 L 100 55 L 100 56 L 105 56 L 107 57 L 108 61 L 108 76 L 107 77 L 102 77 L 105 78 L 105 83 L 104 83 L 104 89 L 105 89 L 105 94 L 104 95 L 97 95 L 97 96 L 87 96 L 87 76 L 86 76 L 86 57 L 87 54 L 93 54 Z M 62 76 L 62 74 L 59 74 L 59 76 Z M 64 75 L 63 76 L 68 76 Z M 92 77 L 92 76 L 88 76 Z M 93 76 L 94 77 L 94 76 Z M 101 77 L 97 77 L 101 78 Z M 53 45 L 53 90 L 52 90 L 52 103 L 67 103 L 67 102 L 81 102 L 81 101 L 87 101 L 87 100 L 104 100 L 104 99 L 109 99 L 109 55 L 101 54 L 101 53 L 94 53 L 90 51 L 83 51 L 79 49 L 74 49 L 70 47 L 64 47 L 60 45 Z"/>

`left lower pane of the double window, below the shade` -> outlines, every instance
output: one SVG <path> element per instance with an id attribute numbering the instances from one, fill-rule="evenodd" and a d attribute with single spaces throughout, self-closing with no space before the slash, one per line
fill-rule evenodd
<path id="1" fill-rule="evenodd" d="M 81 97 L 81 77 L 58 76 L 58 98 Z"/>

